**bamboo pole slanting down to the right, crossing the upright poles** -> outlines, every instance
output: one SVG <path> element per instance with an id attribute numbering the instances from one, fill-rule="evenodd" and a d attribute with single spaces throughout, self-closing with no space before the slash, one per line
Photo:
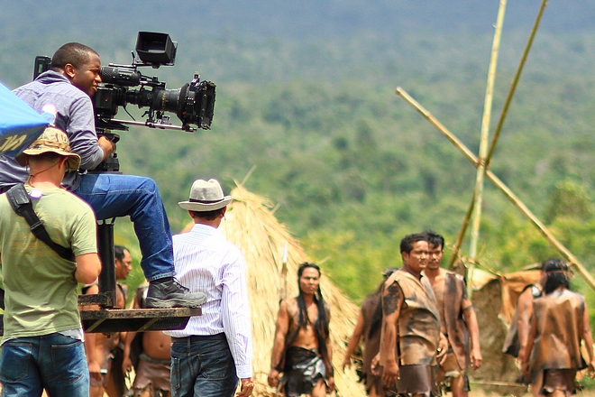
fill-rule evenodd
<path id="1" fill-rule="evenodd" d="M 475 157 L 475 155 L 461 141 L 459 141 L 456 138 L 456 136 L 454 136 L 448 129 L 446 129 L 444 125 L 442 125 L 438 120 L 436 120 L 435 117 L 430 114 L 430 112 L 428 112 L 423 106 L 419 105 L 417 101 L 413 97 L 410 97 L 407 94 L 407 92 L 405 92 L 405 90 L 403 90 L 402 88 L 398 87 L 395 90 L 395 92 L 398 96 L 405 99 L 409 105 L 415 107 L 419 114 L 423 115 L 426 118 L 426 120 L 430 122 L 431 125 L 434 125 L 435 128 L 441 134 L 443 134 L 449 141 L 451 141 L 451 143 L 453 143 L 454 146 L 462 152 L 462 154 L 467 158 L 467 160 L 469 160 L 473 164 L 473 166 L 478 166 L 477 157 Z M 573 267 L 576 268 L 577 272 L 581 274 L 581 277 L 585 280 L 585 282 L 589 284 L 590 288 L 595 290 L 595 280 L 590 276 L 590 273 L 587 272 L 587 270 L 585 270 L 585 268 L 581 265 L 579 260 L 570 251 L 568 251 L 568 249 L 562 243 L 560 243 L 555 238 L 555 236 L 552 235 L 552 233 L 550 233 L 547 227 L 545 227 L 545 225 L 543 225 L 539 221 L 539 219 L 537 219 L 537 217 L 533 215 L 529 208 L 526 208 L 525 204 L 523 204 L 523 202 L 517 198 L 517 196 L 512 192 L 512 190 L 508 189 L 504 182 L 499 180 L 499 178 L 496 175 L 494 175 L 492 171 L 486 171 L 486 177 L 496 186 L 496 188 L 498 188 L 502 193 L 504 193 L 507 199 L 510 200 L 510 202 L 518 210 L 520 210 L 521 213 L 525 217 L 527 217 L 534 226 L 536 226 L 539 233 L 541 233 L 545 237 L 545 239 L 551 245 L 554 246 L 556 251 L 558 251 L 558 253 L 560 253 Z"/>

